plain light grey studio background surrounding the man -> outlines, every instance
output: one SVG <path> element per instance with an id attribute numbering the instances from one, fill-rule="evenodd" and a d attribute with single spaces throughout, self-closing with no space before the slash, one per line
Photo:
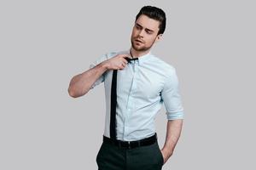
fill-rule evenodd
<path id="1" fill-rule="evenodd" d="M 153 49 L 175 66 L 185 109 L 167 169 L 255 169 L 253 1 L 1 1 L 0 169 L 96 169 L 102 84 L 73 99 L 70 79 L 97 57 L 130 48 L 143 5 L 167 15 Z M 157 116 L 160 146 L 164 107 Z"/>

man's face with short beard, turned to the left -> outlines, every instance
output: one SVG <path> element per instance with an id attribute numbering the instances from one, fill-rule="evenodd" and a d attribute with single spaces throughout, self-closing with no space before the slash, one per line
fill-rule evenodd
<path id="1" fill-rule="evenodd" d="M 136 20 L 131 33 L 131 46 L 137 51 L 143 52 L 149 50 L 154 42 L 160 40 L 162 36 L 157 35 L 160 21 L 148 18 L 142 14 Z"/>

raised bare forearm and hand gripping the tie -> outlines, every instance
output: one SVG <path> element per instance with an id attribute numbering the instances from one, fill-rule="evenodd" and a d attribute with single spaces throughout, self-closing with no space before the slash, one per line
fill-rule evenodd
<path id="1" fill-rule="evenodd" d="M 127 61 L 124 59 L 125 57 L 129 56 L 127 56 L 127 54 L 116 55 L 115 57 L 96 65 L 90 70 L 74 76 L 69 83 L 68 94 L 73 98 L 78 98 L 87 94 L 93 83 L 96 82 L 105 71 L 124 69 L 125 65 L 127 65 Z"/>

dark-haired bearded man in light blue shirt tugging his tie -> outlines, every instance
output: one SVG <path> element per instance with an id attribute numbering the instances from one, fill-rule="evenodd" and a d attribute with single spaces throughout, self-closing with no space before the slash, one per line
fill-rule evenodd
<path id="1" fill-rule="evenodd" d="M 69 95 L 77 98 L 104 82 L 105 131 L 96 156 L 100 170 L 158 170 L 172 156 L 183 124 L 177 75 L 172 65 L 150 53 L 165 28 L 162 9 L 141 8 L 131 33 L 131 48 L 103 55 L 69 84 Z M 160 150 L 154 117 L 162 104 L 168 122 L 166 143 Z"/>

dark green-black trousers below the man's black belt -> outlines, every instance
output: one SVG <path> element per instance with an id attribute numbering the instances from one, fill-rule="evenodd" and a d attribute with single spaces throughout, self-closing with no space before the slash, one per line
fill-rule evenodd
<path id="1" fill-rule="evenodd" d="M 96 163 L 99 170 L 160 170 L 164 159 L 157 141 L 133 149 L 103 142 Z"/>

